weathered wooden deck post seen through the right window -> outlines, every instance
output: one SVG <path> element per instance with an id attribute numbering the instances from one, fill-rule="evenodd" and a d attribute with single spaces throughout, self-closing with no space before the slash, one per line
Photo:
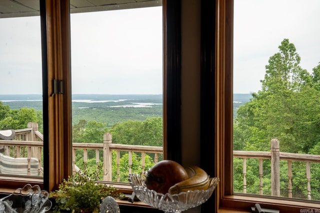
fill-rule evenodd
<path id="1" fill-rule="evenodd" d="M 271 140 L 271 196 L 280 197 L 280 148 L 279 140 Z"/>

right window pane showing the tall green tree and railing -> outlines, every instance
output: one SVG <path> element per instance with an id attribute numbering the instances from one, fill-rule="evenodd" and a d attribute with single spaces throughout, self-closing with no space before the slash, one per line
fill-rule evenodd
<path id="1" fill-rule="evenodd" d="M 319 7 L 234 0 L 236 193 L 320 199 Z"/>

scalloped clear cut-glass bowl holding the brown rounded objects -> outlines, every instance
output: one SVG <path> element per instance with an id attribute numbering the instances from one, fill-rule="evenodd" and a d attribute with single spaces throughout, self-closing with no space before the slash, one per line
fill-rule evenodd
<path id="1" fill-rule="evenodd" d="M 140 201 L 165 213 L 181 213 L 203 204 L 210 198 L 219 182 L 218 178 L 210 178 L 207 190 L 192 190 L 174 195 L 169 193 L 163 195 L 145 187 L 144 175 L 129 174 L 128 180 L 135 196 Z"/>

